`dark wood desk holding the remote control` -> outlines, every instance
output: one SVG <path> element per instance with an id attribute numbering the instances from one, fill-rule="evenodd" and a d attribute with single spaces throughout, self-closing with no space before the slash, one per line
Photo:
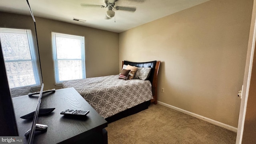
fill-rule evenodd
<path id="1" fill-rule="evenodd" d="M 36 110 L 38 96 L 19 96 L 12 98 L 19 136 L 31 128 L 32 120 L 20 118 Z M 56 143 L 107 143 L 107 134 L 102 134 L 108 124 L 91 106 L 76 92 L 74 88 L 56 90 L 42 96 L 40 108 L 56 108 L 49 116 L 38 116 L 37 123 L 45 124 L 48 130 L 34 137 L 34 144 Z M 60 114 L 66 109 L 90 110 L 85 118 L 66 117 Z M 24 137 L 24 143 L 27 138 Z"/>

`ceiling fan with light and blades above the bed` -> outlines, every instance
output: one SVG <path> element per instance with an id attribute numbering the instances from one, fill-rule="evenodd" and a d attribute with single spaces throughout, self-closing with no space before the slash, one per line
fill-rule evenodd
<path id="1" fill-rule="evenodd" d="M 81 6 L 91 6 L 91 7 L 101 7 L 101 8 L 108 8 L 108 10 L 106 11 L 106 16 L 105 19 L 110 19 L 113 18 L 115 16 L 115 10 L 125 10 L 128 12 L 135 12 L 136 8 L 135 7 L 125 7 L 125 6 L 115 6 L 116 2 L 118 0 L 113 0 L 113 2 L 109 2 L 108 0 L 104 0 L 105 2 L 105 6 L 103 5 L 96 5 L 96 4 L 81 4 Z"/>

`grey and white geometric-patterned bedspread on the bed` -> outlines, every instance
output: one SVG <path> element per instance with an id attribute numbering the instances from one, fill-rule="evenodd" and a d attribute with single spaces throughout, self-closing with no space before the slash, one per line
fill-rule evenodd
<path id="1" fill-rule="evenodd" d="M 153 99 L 150 81 L 122 80 L 118 75 L 62 82 L 62 88 L 70 87 L 104 118 Z"/>

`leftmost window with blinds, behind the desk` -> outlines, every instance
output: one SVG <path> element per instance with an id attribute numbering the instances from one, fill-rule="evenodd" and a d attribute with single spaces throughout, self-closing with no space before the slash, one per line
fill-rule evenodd
<path id="1" fill-rule="evenodd" d="M 0 41 L 9 87 L 40 86 L 40 67 L 31 30 L 0 28 Z"/>

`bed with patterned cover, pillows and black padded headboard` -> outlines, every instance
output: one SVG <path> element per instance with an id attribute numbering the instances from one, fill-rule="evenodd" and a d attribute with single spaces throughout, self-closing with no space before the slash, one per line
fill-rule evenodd
<path id="1" fill-rule="evenodd" d="M 145 110 L 150 103 L 157 103 L 159 66 L 159 61 L 122 61 L 122 72 L 119 75 L 68 80 L 62 82 L 62 88 L 74 87 L 110 123 Z M 144 70 L 149 70 L 146 77 L 143 75 L 146 72 Z M 129 72 L 127 78 L 130 80 L 122 77 L 124 72 Z"/>

